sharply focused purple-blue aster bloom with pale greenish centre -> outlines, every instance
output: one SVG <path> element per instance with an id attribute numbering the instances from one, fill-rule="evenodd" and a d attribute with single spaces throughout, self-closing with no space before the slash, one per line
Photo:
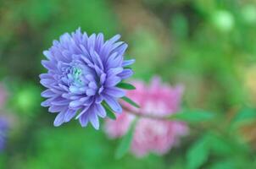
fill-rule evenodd
<path id="1" fill-rule="evenodd" d="M 131 77 L 133 72 L 127 66 L 135 60 L 124 60 L 127 44 L 119 39 L 120 35 L 114 35 L 104 41 L 102 33 L 88 36 L 79 28 L 71 35 L 61 35 L 43 52 L 47 60 L 42 65 L 47 74 L 40 75 L 40 82 L 47 88 L 42 92 L 47 100 L 42 106 L 58 113 L 54 126 L 67 123 L 76 115 L 82 127 L 90 122 L 98 129 L 98 117 L 106 117 L 103 101 L 114 112 L 122 112 L 118 99 L 125 91 L 116 85 Z"/>

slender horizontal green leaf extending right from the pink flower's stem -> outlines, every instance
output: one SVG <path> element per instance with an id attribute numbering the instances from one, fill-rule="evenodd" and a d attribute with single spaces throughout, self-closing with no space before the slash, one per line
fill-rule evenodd
<path id="1" fill-rule="evenodd" d="M 180 112 L 172 114 L 169 119 L 178 120 L 190 123 L 208 121 L 214 117 L 214 114 L 211 112 L 203 111 L 192 111 L 192 112 Z"/>

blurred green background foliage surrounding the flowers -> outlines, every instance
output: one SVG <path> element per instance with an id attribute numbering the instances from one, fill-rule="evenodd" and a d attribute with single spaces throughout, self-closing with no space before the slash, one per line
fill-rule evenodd
<path id="1" fill-rule="evenodd" d="M 215 127 L 192 124 L 167 155 L 120 160 L 120 140 L 103 129 L 75 120 L 53 127 L 40 106 L 42 51 L 78 27 L 121 34 L 136 58 L 134 79 L 184 85 L 182 106 L 218 114 Z M 0 113 L 10 123 L 0 168 L 256 168 L 254 0 L 0 0 L 0 79 L 8 95 Z M 233 119 L 247 123 L 233 128 Z M 205 138 L 211 150 L 198 148 Z"/>

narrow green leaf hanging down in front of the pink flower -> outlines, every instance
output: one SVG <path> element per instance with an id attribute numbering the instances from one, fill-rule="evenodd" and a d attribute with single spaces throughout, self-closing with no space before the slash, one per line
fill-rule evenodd
<path id="1" fill-rule="evenodd" d="M 124 138 L 121 140 L 116 152 L 115 152 L 115 158 L 120 159 L 122 158 L 127 151 L 130 149 L 131 140 L 133 137 L 133 131 L 136 126 L 136 119 L 131 123 L 131 127 L 129 128 L 127 134 L 124 136 Z"/>

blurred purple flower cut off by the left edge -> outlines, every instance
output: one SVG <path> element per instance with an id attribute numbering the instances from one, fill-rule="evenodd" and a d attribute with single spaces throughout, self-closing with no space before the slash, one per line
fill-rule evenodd
<path id="1" fill-rule="evenodd" d="M 8 132 L 8 121 L 5 117 L 0 117 L 0 151 L 4 149 Z"/>

